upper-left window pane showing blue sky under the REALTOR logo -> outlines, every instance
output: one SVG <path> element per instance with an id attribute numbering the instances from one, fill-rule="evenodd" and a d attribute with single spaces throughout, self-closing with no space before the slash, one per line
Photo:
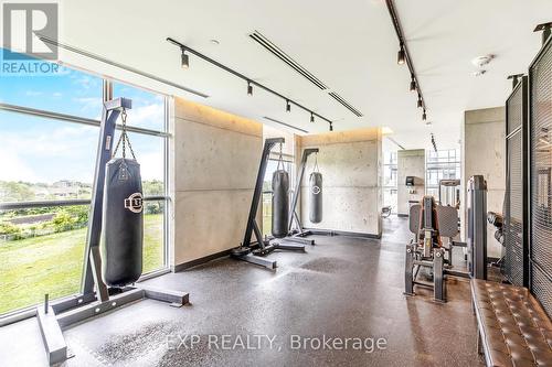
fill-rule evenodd
<path id="1" fill-rule="evenodd" d="M 99 120 L 102 83 L 64 66 L 56 74 L 6 74 L 0 78 L 0 102 Z"/>

